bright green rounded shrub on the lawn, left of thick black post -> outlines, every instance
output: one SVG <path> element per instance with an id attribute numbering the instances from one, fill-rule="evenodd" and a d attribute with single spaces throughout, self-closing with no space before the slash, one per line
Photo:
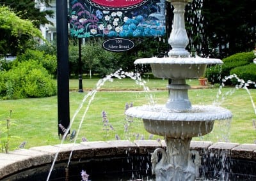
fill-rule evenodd
<path id="1" fill-rule="evenodd" d="M 0 97 L 3 99 L 35 98 L 56 95 L 56 82 L 36 61 L 20 62 L 0 74 Z"/>

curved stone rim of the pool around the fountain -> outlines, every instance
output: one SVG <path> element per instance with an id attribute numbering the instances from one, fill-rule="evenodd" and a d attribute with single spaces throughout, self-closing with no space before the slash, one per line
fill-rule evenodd
<path id="1" fill-rule="evenodd" d="M 0 153 L 0 180 L 17 171 L 56 162 L 67 161 L 72 151 L 72 159 L 124 156 L 132 154 L 150 154 L 157 147 L 166 147 L 164 141 L 128 140 L 89 141 L 83 143 L 68 143 L 63 145 L 46 145 L 29 149 L 14 150 L 8 154 Z M 211 141 L 191 141 L 191 150 L 198 150 L 201 155 L 227 156 L 236 159 L 251 159 L 256 161 L 256 144 L 212 143 Z M 58 153 L 58 154 L 57 154 Z"/>

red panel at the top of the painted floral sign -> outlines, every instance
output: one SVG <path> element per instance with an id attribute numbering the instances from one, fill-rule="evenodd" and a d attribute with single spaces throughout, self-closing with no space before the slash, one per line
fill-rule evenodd
<path id="1" fill-rule="evenodd" d="M 145 0 L 91 0 L 93 3 L 99 4 L 100 6 L 106 6 L 111 8 L 125 8 L 140 4 Z"/>

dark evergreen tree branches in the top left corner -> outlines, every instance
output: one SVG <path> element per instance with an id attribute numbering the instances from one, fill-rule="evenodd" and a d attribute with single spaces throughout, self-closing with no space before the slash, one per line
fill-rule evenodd
<path id="1" fill-rule="evenodd" d="M 41 2 L 44 0 L 41 0 Z M 44 3 L 49 6 L 51 0 L 46 0 Z M 43 3 L 43 2 L 42 2 Z M 36 27 L 40 24 L 52 24 L 47 20 L 46 16 L 53 17 L 54 11 L 40 11 L 35 8 L 35 1 L 31 0 L 1 0 L 0 4 L 5 6 L 10 6 L 12 10 L 19 15 L 20 18 L 24 20 L 31 20 Z"/>

